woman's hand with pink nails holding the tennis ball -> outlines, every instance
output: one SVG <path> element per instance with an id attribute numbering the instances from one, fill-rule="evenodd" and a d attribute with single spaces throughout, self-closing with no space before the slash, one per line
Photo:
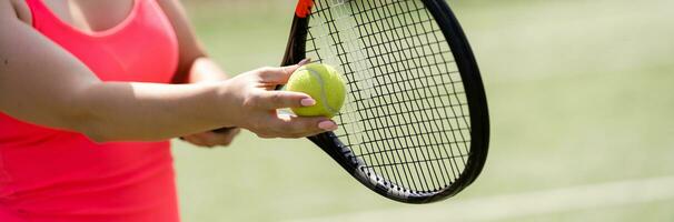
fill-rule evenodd
<path id="1" fill-rule="evenodd" d="M 337 129 L 325 117 L 278 115 L 277 109 L 309 107 L 316 101 L 299 92 L 275 91 L 285 84 L 290 74 L 307 60 L 283 68 L 260 68 L 239 74 L 227 81 L 221 93 L 224 100 L 234 102 L 222 113 L 230 115 L 234 125 L 247 129 L 260 138 L 303 138 Z"/>

